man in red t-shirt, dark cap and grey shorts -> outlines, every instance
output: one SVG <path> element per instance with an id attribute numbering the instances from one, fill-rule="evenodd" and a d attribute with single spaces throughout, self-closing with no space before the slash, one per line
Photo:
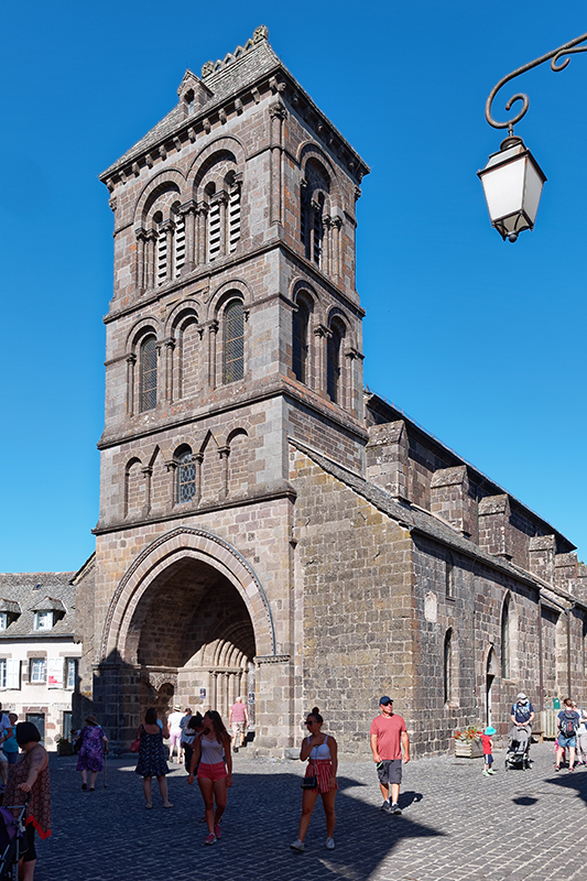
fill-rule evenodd
<path id="1" fill-rule="evenodd" d="M 381 811 L 385 814 L 401 814 L 398 804 L 400 798 L 400 783 L 402 782 L 402 747 L 403 761 L 410 761 L 410 738 L 405 722 L 401 716 L 393 713 L 393 700 L 384 695 L 379 701 L 381 716 L 373 719 L 371 729 L 371 751 L 373 762 L 377 764 L 381 794 L 385 800 Z"/>

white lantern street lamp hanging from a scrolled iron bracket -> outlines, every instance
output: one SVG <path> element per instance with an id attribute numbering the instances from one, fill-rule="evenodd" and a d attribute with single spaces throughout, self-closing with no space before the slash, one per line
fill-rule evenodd
<path id="1" fill-rule="evenodd" d="M 491 116 L 491 105 L 500 88 L 526 70 L 537 67 L 539 64 L 552 58 L 551 68 L 557 73 L 564 70 L 570 58 L 576 52 L 586 52 L 587 46 L 579 46 L 587 40 L 587 34 L 577 36 L 569 43 L 547 52 L 523 67 L 519 67 L 513 73 L 504 76 L 491 90 L 485 107 L 485 117 L 494 129 L 508 129 L 508 138 L 501 143 L 497 153 L 489 156 L 489 162 L 485 168 L 477 172 L 483 185 L 491 226 L 494 227 L 503 241 L 515 241 L 520 232 L 524 229 L 533 229 L 536 211 L 539 209 L 542 186 L 546 181 L 546 175 L 539 163 L 525 146 L 521 138 L 513 133 L 513 127 L 525 116 L 530 100 L 528 95 L 514 95 L 506 105 L 506 110 L 510 110 L 515 101 L 522 101 L 522 109 L 507 122 L 497 122 Z"/>

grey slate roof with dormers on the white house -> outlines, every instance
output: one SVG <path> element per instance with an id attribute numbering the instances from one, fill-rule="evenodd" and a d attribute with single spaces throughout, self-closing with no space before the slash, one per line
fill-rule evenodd
<path id="1" fill-rule="evenodd" d="M 0 631 L 0 642 L 15 637 L 43 640 L 73 637 L 74 576 L 75 572 L 0 573 L 0 611 L 14 611 L 13 603 L 20 607 L 18 618 L 11 621 L 7 630 Z M 65 611 L 65 614 L 51 630 L 35 630 L 34 611 L 51 609 Z"/>

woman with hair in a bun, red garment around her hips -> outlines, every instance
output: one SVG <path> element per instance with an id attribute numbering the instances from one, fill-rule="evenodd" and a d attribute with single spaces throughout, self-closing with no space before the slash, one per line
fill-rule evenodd
<path id="1" fill-rule="evenodd" d="M 307 827 L 309 826 L 309 818 L 316 804 L 318 793 L 322 795 L 322 804 L 324 813 L 326 814 L 326 847 L 328 850 L 334 850 L 335 840 L 335 798 L 338 783 L 336 782 L 336 772 L 338 770 L 338 746 L 334 737 L 324 735 L 322 726 L 324 719 L 318 713 L 318 708 L 314 707 L 312 713 L 308 713 L 306 718 L 306 726 L 308 736 L 302 741 L 300 750 L 300 759 L 305 762 L 308 760 L 304 783 L 315 779 L 316 785 L 313 788 L 306 788 L 304 784 L 302 787 L 304 793 L 302 795 L 302 817 L 300 818 L 300 830 L 297 839 L 290 845 L 292 850 L 297 850 L 302 853 L 305 850 L 304 838 L 306 837 Z"/>

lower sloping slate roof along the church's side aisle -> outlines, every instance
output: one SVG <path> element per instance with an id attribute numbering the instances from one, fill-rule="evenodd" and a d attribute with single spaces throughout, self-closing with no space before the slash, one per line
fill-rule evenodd
<path id="1" fill-rule="evenodd" d="M 384 514 L 388 514 L 402 529 L 405 529 L 412 533 L 420 533 L 421 535 L 424 535 L 433 541 L 447 545 L 448 547 L 452 547 L 461 554 L 465 554 L 469 558 L 472 557 L 487 563 L 487 565 L 491 566 L 491 568 L 499 569 L 517 580 L 521 579 L 526 584 L 532 584 L 535 587 L 544 588 L 548 591 L 559 594 L 567 599 L 574 599 L 575 601 L 578 601 L 576 598 L 570 597 L 570 595 L 565 590 L 554 588 L 553 585 L 550 585 L 547 581 L 543 581 L 533 573 L 529 573 L 525 569 L 522 569 L 520 566 L 515 566 L 513 563 L 510 563 L 503 557 L 497 557 L 493 554 L 489 554 L 487 551 L 483 551 L 481 547 L 479 547 L 479 545 L 475 544 L 475 542 L 466 539 L 460 532 L 454 530 L 448 523 L 435 516 L 430 511 L 425 511 L 423 508 L 418 508 L 417 505 L 396 501 L 388 492 L 385 492 L 384 489 L 381 489 L 374 483 L 371 483 L 369 480 L 366 480 L 357 471 L 351 471 L 340 465 L 337 465 L 331 459 L 326 458 L 326 456 L 317 453 L 312 447 L 307 447 L 297 439 L 290 437 L 290 444 L 304 453 L 304 455 L 316 463 L 316 465 L 318 465 L 324 471 L 335 477 L 341 483 L 345 483 L 345 486 L 357 492 L 357 494 L 361 496 L 367 501 L 371 502 L 371 504 L 373 504 L 378 510 L 382 511 Z"/>

